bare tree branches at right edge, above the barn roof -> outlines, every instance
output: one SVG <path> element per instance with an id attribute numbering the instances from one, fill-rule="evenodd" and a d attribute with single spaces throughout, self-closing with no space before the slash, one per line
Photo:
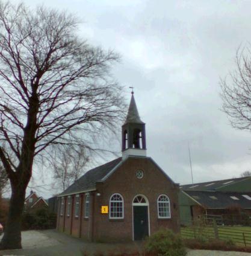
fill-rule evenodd
<path id="1" fill-rule="evenodd" d="M 232 127 L 251 130 L 251 54 L 249 46 L 239 48 L 235 71 L 221 80 L 223 111 Z"/>

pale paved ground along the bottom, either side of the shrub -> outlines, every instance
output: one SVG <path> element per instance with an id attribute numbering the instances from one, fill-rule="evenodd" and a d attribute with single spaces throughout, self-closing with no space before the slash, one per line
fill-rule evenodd
<path id="1" fill-rule="evenodd" d="M 1 239 L 1 237 L 0 237 Z M 119 252 L 138 251 L 141 246 L 138 243 L 129 244 L 105 244 L 88 243 L 79 238 L 70 237 L 55 230 L 24 231 L 22 232 L 23 249 L 0 251 L 0 255 L 13 256 L 78 256 L 118 254 Z M 221 252 L 206 250 L 190 250 L 187 256 L 250 256 L 245 252 Z"/>

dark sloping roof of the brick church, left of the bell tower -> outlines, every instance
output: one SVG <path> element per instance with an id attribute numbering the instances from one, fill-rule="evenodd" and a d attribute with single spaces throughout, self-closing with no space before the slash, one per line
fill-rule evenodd
<path id="1" fill-rule="evenodd" d="M 122 158 L 117 158 L 111 162 L 100 165 L 85 173 L 81 178 L 74 182 L 70 187 L 63 191 L 60 196 L 67 194 L 76 194 L 81 191 L 92 190 L 96 188 L 96 182 L 101 181 L 117 164 L 122 161 Z"/>

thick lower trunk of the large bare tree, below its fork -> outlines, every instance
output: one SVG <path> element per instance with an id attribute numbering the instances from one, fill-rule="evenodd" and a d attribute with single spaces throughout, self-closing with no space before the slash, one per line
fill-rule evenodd
<path id="1" fill-rule="evenodd" d="M 4 237 L 0 243 L 1 249 L 21 249 L 21 225 L 22 213 L 25 200 L 26 187 L 20 187 L 20 184 L 12 184 L 12 193 L 10 199 L 10 209 Z"/>

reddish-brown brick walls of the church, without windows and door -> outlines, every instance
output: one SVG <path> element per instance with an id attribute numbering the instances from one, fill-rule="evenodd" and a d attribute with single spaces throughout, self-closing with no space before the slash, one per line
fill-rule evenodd
<path id="1" fill-rule="evenodd" d="M 142 179 L 135 176 L 136 170 L 143 170 Z M 128 158 L 105 182 L 96 184 L 96 191 L 90 191 L 90 216 L 84 217 L 85 194 L 79 194 L 79 216 L 75 217 L 75 195 L 72 197 L 72 211 L 66 216 L 68 197 L 65 196 L 64 214 L 58 210 L 57 228 L 75 237 L 91 241 L 131 241 L 133 234 L 132 201 L 138 194 L 143 194 L 149 201 L 150 234 L 161 227 L 179 231 L 178 185 L 173 183 L 149 158 Z M 97 196 L 97 194 L 100 196 Z M 108 205 L 112 194 L 119 193 L 124 200 L 124 218 L 109 219 L 109 214 L 101 214 L 101 206 Z M 166 194 L 170 200 L 170 219 L 158 219 L 157 199 Z M 61 199 L 62 200 L 62 199 Z"/>

